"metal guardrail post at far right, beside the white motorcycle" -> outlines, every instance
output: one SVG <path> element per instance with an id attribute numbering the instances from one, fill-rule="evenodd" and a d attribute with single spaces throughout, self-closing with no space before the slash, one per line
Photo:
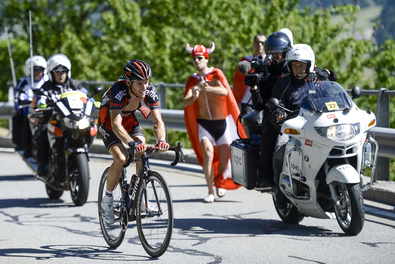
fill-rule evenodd
<path id="1" fill-rule="evenodd" d="M 386 95 L 385 91 L 387 91 L 386 88 L 380 88 L 378 92 L 376 106 L 377 127 L 389 127 L 390 97 Z M 389 180 L 389 158 L 378 157 L 376 167 L 376 180 Z"/>

